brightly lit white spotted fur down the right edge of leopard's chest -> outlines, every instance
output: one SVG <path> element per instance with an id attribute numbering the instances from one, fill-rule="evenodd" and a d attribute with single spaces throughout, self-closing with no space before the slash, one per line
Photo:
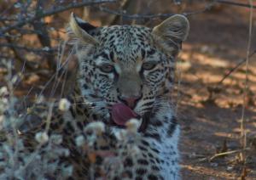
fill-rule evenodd
<path id="1" fill-rule="evenodd" d="M 151 131 L 158 132 L 160 134 L 160 141 L 154 141 L 151 145 L 155 149 L 159 149 L 160 158 L 160 174 L 166 180 L 180 179 L 179 175 L 179 152 L 177 148 L 180 127 L 176 125 L 174 121 L 172 108 L 169 103 L 163 105 L 158 113 L 155 115 L 155 119 L 163 122 L 161 127 L 151 127 Z M 165 118 L 166 117 L 166 118 Z M 173 132 L 170 134 L 170 125 L 174 123 Z M 149 127 L 150 128 L 150 127 Z"/>

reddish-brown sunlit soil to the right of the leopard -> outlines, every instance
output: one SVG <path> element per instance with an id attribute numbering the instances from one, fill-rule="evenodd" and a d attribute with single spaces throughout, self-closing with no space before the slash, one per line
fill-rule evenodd
<path id="1" fill-rule="evenodd" d="M 247 70 L 245 163 L 240 157 L 245 65 L 218 83 L 246 57 L 248 13 L 247 8 L 224 6 L 190 18 L 189 39 L 177 65 L 183 179 L 256 179 L 256 55 Z M 253 37 L 252 50 L 254 32 Z M 230 154 L 211 160 L 224 152 Z"/>

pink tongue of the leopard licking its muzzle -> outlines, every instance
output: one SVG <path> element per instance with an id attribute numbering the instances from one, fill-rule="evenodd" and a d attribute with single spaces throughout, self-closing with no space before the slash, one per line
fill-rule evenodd
<path id="1" fill-rule="evenodd" d="M 113 121 L 121 126 L 125 126 L 125 123 L 131 118 L 137 117 L 137 114 L 125 104 L 114 104 L 111 114 Z"/>

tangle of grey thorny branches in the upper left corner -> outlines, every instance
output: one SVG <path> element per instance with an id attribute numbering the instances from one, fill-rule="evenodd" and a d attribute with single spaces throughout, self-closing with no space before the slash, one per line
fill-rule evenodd
<path id="1" fill-rule="evenodd" d="M 26 51 L 29 53 L 42 54 L 41 59 L 46 59 L 47 65 L 50 70 L 56 70 L 56 62 L 54 51 L 49 37 L 48 26 L 44 23 L 44 17 L 59 14 L 71 8 L 80 8 L 84 6 L 91 6 L 102 3 L 114 3 L 116 0 L 84 0 L 80 3 L 68 3 L 67 5 L 52 6 L 53 8 L 44 9 L 45 2 L 39 0 L 36 6 L 33 7 L 31 1 L 25 1 L 22 3 L 15 2 L 8 6 L 3 13 L 1 13 L 0 24 L 0 37 L 3 37 L 3 41 L 0 42 L 0 48 L 9 48 L 15 55 L 17 59 L 15 63 L 15 69 L 20 70 L 20 65 L 26 65 L 27 70 L 33 70 L 32 65 L 27 62 L 26 56 L 20 51 Z M 11 12 L 16 8 L 15 6 L 19 4 L 20 14 L 17 12 L 13 16 L 7 15 L 9 11 Z M 32 8 L 32 9 L 31 9 Z M 28 14 L 28 12 L 31 12 Z M 32 28 L 27 28 L 31 24 Z M 14 33 L 11 31 L 15 30 Z M 38 37 L 39 43 L 42 48 L 32 48 L 26 45 L 19 45 L 20 38 L 26 34 L 35 34 Z M 1 40 L 1 39 L 0 39 Z M 4 41 L 5 40 L 5 41 Z M 19 40 L 19 42 L 18 42 Z M 11 55 L 13 56 L 13 55 Z"/>

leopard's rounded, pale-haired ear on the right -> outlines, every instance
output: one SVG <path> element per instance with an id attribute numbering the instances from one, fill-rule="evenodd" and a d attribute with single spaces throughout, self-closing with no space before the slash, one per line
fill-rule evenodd
<path id="1" fill-rule="evenodd" d="M 189 34 L 189 20 L 180 14 L 172 15 L 160 25 L 154 27 L 152 35 L 157 43 L 166 53 L 177 55 L 181 49 L 182 42 Z"/>

